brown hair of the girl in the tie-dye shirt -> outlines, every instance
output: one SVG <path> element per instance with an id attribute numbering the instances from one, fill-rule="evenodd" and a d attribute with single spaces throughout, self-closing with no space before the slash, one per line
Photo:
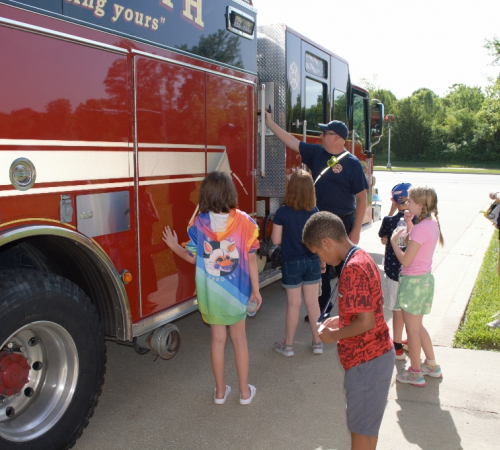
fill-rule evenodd
<path id="1" fill-rule="evenodd" d="M 218 170 L 210 172 L 200 188 L 200 212 L 229 213 L 238 206 L 238 193 L 233 180 Z"/>

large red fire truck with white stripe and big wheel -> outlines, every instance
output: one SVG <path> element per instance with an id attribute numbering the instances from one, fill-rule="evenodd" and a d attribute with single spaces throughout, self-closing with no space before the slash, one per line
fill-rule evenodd
<path id="1" fill-rule="evenodd" d="M 250 0 L 0 0 L 0 448 L 70 448 L 97 403 L 105 339 L 169 359 L 197 309 L 181 241 L 200 184 L 230 173 L 262 228 L 332 118 L 373 186 L 383 106 L 348 64 Z M 265 86 L 265 88 L 264 88 Z M 379 214 L 371 190 L 366 225 Z"/>

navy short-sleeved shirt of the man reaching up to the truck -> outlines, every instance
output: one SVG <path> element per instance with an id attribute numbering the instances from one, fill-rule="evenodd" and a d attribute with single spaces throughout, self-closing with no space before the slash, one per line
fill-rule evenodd
<path id="1" fill-rule="evenodd" d="M 311 169 L 313 180 L 328 167 L 333 156 L 321 145 L 301 142 L 299 145 L 302 162 Z M 339 157 L 338 155 L 337 157 Z M 316 206 L 320 211 L 330 211 L 338 216 L 354 212 L 355 195 L 368 189 L 363 166 L 351 153 L 321 176 L 316 183 Z"/>

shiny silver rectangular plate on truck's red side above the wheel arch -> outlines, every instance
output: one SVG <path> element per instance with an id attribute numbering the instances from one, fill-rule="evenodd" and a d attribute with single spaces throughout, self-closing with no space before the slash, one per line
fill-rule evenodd
<path id="1" fill-rule="evenodd" d="M 76 197 L 78 231 L 88 237 L 130 230 L 128 191 Z"/>

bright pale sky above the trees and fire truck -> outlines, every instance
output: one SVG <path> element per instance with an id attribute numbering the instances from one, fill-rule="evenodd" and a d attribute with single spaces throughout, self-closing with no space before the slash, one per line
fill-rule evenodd
<path id="1" fill-rule="evenodd" d="M 349 61 L 354 83 L 368 79 L 404 98 L 454 83 L 484 87 L 500 66 L 484 48 L 500 38 L 500 0 L 254 0 L 258 23 L 285 23 Z"/>

